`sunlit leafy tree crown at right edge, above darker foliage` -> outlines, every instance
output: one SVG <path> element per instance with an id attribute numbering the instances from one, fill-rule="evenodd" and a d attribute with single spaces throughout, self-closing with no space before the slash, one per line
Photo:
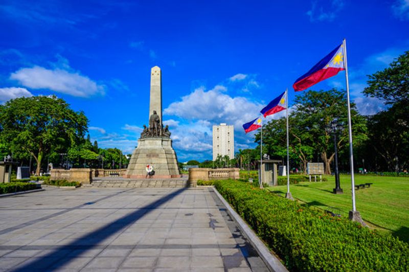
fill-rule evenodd
<path id="1" fill-rule="evenodd" d="M 386 104 L 409 104 L 409 51 L 383 71 L 368 77 L 368 87 L 363 90 L 363 94 L 377 97 Z"/>

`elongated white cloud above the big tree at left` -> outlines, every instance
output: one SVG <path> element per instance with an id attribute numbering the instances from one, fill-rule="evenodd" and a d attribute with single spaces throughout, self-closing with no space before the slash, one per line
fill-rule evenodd
<path id="1" fill-rule="evenodd" d="M 58 65 L 58 63 L 62 63 Z M 76 97 L 89 97 L 104 94 L 105 87 L 97 84 L 79 72 L 71 71 L 66 61 L 59 59 L 59 67 L 46 69 L 41 66 L 21 68 L 12 73 L 10 79 L 17 80 L 21 85 L 33 89 L 50 89 L 55 92 Z"/>

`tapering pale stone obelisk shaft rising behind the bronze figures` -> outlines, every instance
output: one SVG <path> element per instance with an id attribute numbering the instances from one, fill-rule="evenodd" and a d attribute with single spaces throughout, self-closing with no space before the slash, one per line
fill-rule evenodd
<path id="1" fill-rule="evenodd" d="M 150 70 L 149 117 L 154 110 L 161 120 L 160 127 L 162 127 L 162 72 L 158 66 Z"/>

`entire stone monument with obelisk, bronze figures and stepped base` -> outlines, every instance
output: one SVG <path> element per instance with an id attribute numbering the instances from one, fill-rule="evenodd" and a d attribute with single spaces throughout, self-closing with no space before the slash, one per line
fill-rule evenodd
<path id="1" fill-rule="evenodd" d="M 149 125 L 144 125 L 124 177 L 145 178 L 148 171 L 155 178 L 180 177 L 171 133 L 162 122 L 162 73 L 154 66 L 150 74 Z"/>

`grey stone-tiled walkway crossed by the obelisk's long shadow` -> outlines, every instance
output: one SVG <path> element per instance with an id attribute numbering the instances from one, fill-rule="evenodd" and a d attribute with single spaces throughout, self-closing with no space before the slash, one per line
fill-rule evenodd
<path id="1" fill-rule="evenodd" d="M 267 271 L 212 188 L 0 198 L 0 270 Z"/>

